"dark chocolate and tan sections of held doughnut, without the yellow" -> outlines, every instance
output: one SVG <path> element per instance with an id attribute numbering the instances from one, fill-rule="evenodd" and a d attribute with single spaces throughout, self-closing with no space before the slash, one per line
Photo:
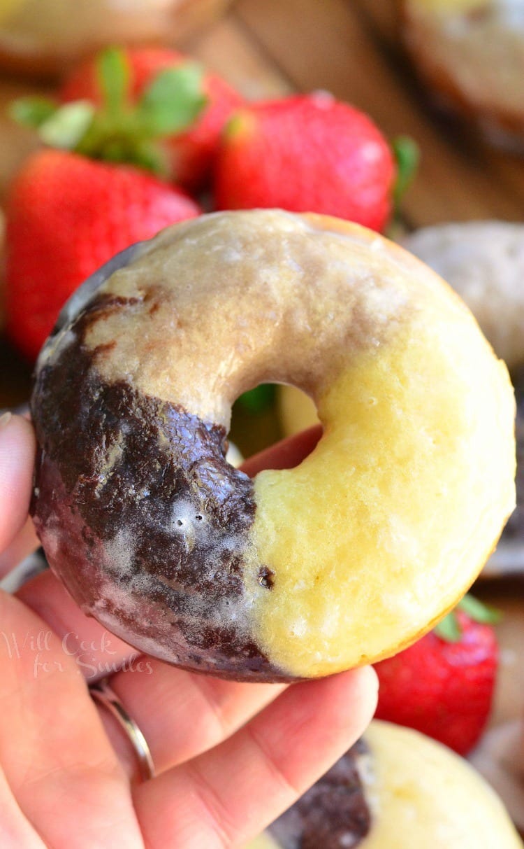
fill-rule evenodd
<path id="1" fill-rule="evenodd" d="M 128 249 L 64 307 L 32 397 L 32 511 L 83 610 L 138 649 L 235 678 L 301 677 L 260 648 L 252 611 L 278 577 L 254 543 L 254 484 L 226 463 L 226 422 L 242 388 L 319 383 L 348 346 L 397 326 L 404 299 L 377 281 L 360 304 L 345 256 L 337 233 L 283 213 L 208 216 Z"/>

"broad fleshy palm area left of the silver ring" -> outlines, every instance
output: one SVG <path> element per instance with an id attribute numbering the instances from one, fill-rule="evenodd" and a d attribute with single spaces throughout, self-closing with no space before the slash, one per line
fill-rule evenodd
<path id="1" fill-rule="evenodd" d="M 47 624 L 0 593 L 0 763 L 45 846 L 143 846 L 129 783 L 74 659 Z M 71 835 L 74 835 L 73 840 Z"/>

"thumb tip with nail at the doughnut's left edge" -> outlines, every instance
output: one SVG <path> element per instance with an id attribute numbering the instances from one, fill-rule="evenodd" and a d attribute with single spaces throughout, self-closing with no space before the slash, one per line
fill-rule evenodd
<path id="1" fill-rule="evenodd" d="M 35 452 L 31 424 L 22 416 L 4 413 L 0 419 L 0 551 L 13 542 L 27 519 Z"/>

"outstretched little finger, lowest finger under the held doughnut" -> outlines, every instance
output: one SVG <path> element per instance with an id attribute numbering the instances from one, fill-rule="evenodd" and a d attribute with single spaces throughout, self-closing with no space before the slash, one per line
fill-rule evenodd
<path id="1" fill-rule="evenodd" d="M 214 750 L 137 787 L 146 845 L 245 844 L 360 737 L 376 691 L 370 668 L 293 684 Z"/>

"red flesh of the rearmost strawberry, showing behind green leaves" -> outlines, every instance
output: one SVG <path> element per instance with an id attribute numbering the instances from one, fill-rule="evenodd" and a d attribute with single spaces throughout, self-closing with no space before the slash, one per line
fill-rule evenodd
<path id="1" fill-rule="evenodd" d="M 137 102 L 159 72 L 180 68 L 187 62 L 181 53 L 164 48 L 129 48 L 122 54 L 130 70 L 131 102 Z M 187 130 L 164 140 L 169 149 L 171 176 L 188 188 L 201 186 L 209 176 L 222 127 L 231 112 L 243 103 L 240 94 L 215 74 L 204 74 L 202 87 L 207 102 L 198 120 Z M 86 99 L 102 104 L 98 59 L 87 59 L 75 69 L 65 82 L 60 99 L 64 103 Z"/>

